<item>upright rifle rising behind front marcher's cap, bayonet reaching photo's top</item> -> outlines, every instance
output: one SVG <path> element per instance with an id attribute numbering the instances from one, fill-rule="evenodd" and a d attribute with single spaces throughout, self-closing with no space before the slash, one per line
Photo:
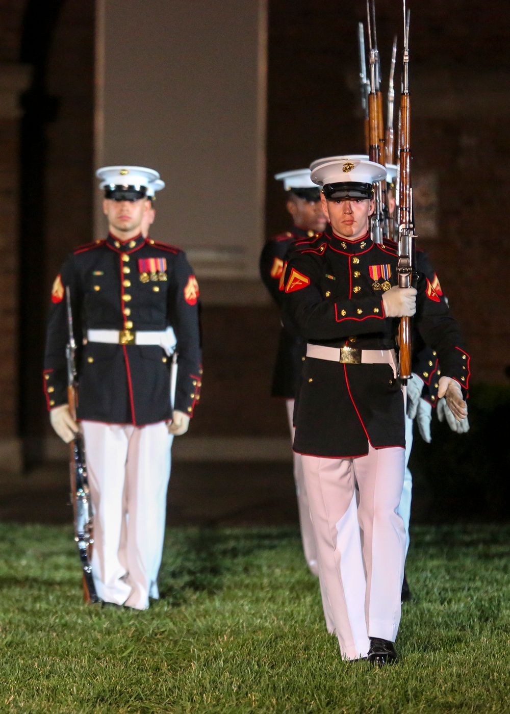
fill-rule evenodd
<path id="1" fill-rule="evenodd" d="M 369 30 L 369 159 L 386 166 L 383 104 L 381 93 L 381 63 L 377 49 L 375 0 L 366 0 Z M 379 181 L 375 189 L 374 213 L 370 216 L 370 235 L 374 243 L 389 237 L 388 208 L 386 206 L 386 180 Z"/>

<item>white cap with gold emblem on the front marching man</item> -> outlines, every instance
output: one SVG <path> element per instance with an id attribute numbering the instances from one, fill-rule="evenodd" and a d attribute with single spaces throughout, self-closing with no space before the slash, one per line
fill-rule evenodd
<path id="1" fill-rule="evenodd" d="M 311 180 L 322 186 L 329 200 L 371 198 L 372 184 L 386 178 L 386 169 L 381 164 L 364 158 L 351 159 L 349 155 L 317 159 L 310 170 Z"/>

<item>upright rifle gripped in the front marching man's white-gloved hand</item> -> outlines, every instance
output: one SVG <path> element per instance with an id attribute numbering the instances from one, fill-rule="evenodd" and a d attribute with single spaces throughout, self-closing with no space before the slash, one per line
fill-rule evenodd
<path id="1" fill-rule="evenodd" d="M 399 131 L 399 262 L 396 271 L 399 287 L 411 287 L 414 268 L 413 189 L 411 187 L 411 100 L 409 97 L 409 20 L 404 0 L 404 52 Z M 411 377 L 411 318 L 400 318 L 399 374 L 404 384 Z"/>

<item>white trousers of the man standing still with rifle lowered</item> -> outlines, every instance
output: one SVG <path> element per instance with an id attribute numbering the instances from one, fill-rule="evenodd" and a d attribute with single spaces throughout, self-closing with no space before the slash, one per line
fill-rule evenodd
<path id="1" fill-rule="evenodd" d="M 166 423 L 82 421 L 94 508 L 92 575 L 101 600 L 137 610 L 159 597 L 171 443 Z"/>

